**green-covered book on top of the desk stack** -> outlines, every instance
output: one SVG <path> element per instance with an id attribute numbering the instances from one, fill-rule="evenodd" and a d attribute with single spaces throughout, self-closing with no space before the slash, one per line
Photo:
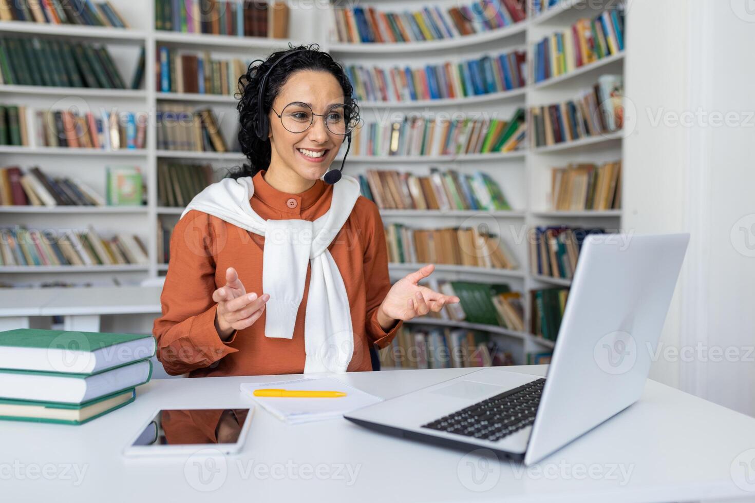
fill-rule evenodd
<path id="1" fill-rule="evenodd" d="M 150 334 L 19 328 L 0 332 L 0 369 L 91 375 L 149 359 L 155 350 Z"/>

